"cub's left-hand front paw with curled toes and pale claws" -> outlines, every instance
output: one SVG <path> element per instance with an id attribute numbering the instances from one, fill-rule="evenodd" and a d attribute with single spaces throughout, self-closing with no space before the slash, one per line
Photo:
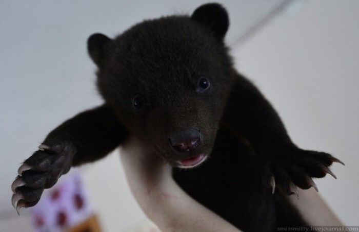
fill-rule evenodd
<path id="1" fill-rule="evenodd" d="M 68 142 L 42 144 L 18 169 L 11 184 L 11 203 L 17 214 L 22 207 L 34 206 L 44 189 L 51 188 L 58 178 L 67 173 L 76 148 Z"/>

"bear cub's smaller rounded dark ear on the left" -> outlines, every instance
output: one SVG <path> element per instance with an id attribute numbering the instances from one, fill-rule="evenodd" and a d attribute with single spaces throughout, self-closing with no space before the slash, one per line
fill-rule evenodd
<path id="1" fill-rule="evenodd" d="M 98 67 L 105 64 L 111 42 L 112 39 L 100 33 L 92 34 L 87 39 L 88 53 Z"/>

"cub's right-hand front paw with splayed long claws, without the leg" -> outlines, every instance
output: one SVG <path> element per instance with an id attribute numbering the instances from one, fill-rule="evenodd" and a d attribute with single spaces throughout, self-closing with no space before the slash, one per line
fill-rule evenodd
<path id="1" fill-rule="evenodd" d="M 333 162 L 344 163 L 325 152 L 302 150 L 296 147 L 281 149 L 269 155 L 264 163 L 264 181 L 267 187 L 280 189 L 288 195 L 299 198 L 296 186 L 301 189 L 318 189 L 312 177 L 321 178 L 326 174 L 336 176 L 330 171 Z"/>

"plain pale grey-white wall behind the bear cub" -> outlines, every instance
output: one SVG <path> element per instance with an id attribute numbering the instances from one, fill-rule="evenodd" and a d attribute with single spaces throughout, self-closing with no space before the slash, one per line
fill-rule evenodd
<path id="1" fill-rule="evenodd" d="M 2 1 L 0 3 L 0 230 L 24 231 L 10 184 L 19 163 L 45 135 L 75 113 L 101 102 L 86 39 L 113 36 L 143 18 L 190 13 L 206 1 Z M 333 153 L 337 180 L 317 180 L 320 193 L 346 225 L 358 225 L 359 2 L 296 1 L 246 40 L 248 29 L 283 1 L 218 1 L 231 15 L 228 42 L 238 69 L 280 112 L 301 147 Z M 295 9 L 294 9 L 295 11 Z M 292 12 L 292 13 L 290 13 Z M 81 168 L 104 231 L 145 218 L 128 188 L 117 152 Z"/>

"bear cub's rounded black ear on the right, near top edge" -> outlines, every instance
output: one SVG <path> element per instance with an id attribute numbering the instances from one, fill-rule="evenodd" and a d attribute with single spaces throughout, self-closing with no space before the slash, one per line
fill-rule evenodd
<path id="1" fill-rule="evenodd" d="M 224 38 L 229 27 L 227 11 L 217 3 L 208 3 L 198 7 L 191 18 L 210 28 L 220 39 Z"/>

